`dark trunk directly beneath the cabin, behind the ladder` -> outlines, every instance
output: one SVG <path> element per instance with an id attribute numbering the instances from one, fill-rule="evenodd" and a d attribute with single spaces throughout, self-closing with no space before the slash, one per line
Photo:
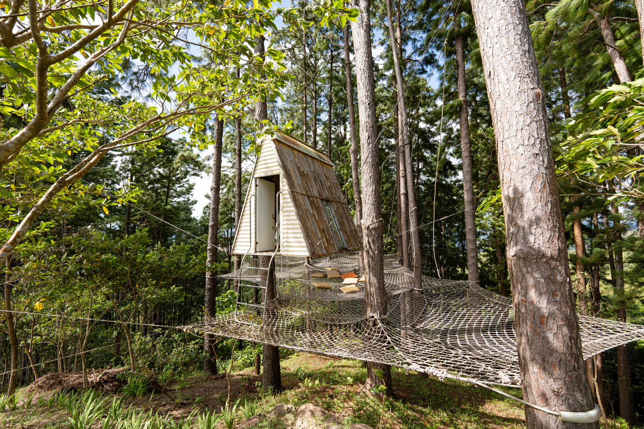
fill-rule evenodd
<path id="1" fill-rule="evenodd" d="M 270 256 L 260 256 L 260 266 L 269 268 L 268 271 L 261 271 L 261 285 L 266 286 L 266 295 L 264 299 L 270 302 L 276 298 L 275 290 L 275 260 L 270 264 Z M 271 318 L 274 315 L 269 315 L 267 308 L 266 318 Z M 274 329 L 265 322 L 264 329 Z M 281 369 L 279 368 L 279 347 L 274 345 L 263 345 L 262 350 L 262 363 L 264 365 L 264 372 L 262 377 L 262 384 L 264 387 L 270 388 L 273 392 L 281 392 L 284 390 L 281 385 Z"/>

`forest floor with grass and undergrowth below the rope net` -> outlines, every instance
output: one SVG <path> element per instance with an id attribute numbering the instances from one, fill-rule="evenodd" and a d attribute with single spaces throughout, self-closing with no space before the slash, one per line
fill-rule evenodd
<path id="1" fill-rule="evenodd" d="M 78 374 L 57 374 L 55 381 L 39 379 L 15 397 L 0 396 L 0 428 L 234 428 L 280 403 L 313 403 L 339 415 L 347 428 L 353 423 L 374 429 L 525 427 L 519 403 L 460 381 L 395 369 L 396 399 L 383 399 L 361 392 L 366 370 L 360 361 L 295 353 L 281 362 L 281 369 L 285 390 L 279 394 L 263 388 L 253 368 L 232 372 L 230 387 L 225 373 L 191 372 L 164 379 L 112 369 L 97 376 L 106 381 L 100 385 L 103 391 L 78 388 Z M 115 374 L 121 374 L 120 383 Z M 504 390 L 520 396 L 518 389 Z M 255 427 L 288 426 L 283 417 L 267 417 Z M 628 426 L 611 420 L 602 427 Z"/>

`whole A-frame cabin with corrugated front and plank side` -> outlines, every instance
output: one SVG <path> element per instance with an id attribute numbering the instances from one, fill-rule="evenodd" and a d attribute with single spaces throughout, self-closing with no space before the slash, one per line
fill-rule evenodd
<path id="1" fill-rule="evenodd" d="M 333 163 L 322 152 L 276 132 L 257 142 L 234 255 L 321 257 L 361 243 Z"/>

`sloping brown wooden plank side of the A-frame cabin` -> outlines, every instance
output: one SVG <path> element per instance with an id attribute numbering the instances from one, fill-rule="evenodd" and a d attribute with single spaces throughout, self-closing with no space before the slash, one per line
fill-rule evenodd
<path id="1" fill-rule="evenodd" d="M 310 256 L 320 257 L 342 251 L 329 225 L 323 205 L 325 200 L 336 214 L 346 250 L 359 250 L 361 243 L 357 228 L 333 166 L 283 141 L 273 141 Z"/>

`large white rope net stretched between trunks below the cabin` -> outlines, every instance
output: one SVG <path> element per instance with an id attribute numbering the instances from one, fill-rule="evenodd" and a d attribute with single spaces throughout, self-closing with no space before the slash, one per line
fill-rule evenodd
<path id="1" fill-rule="evenodd" d="M 423 277 L 413 288 L 413 272 L 397 256 L 384 262 L 390 300 L 386 315 L 367 315 L 365 283 L 343 293 L 343 278 L 316 278 L 337 268 L 363 275 L 357 253 L 310 260 L 276 256 L 278 297 L 256 308 L 207 317 L 181 329 L 240 338 L 341 358 L 368 360 L 426 372 L 440 379 L 476 380 L 494 385 L 520 385 L 512 301 L 466 281 Z M 260 284 L 258 260 L 242 265 L 243 282 Z M 240 278 L 229 273 L 220 278 Z M 330 288 L 319 289 L 313 283 Z M 242 286 L 243 288 L 243 286 Z M 260 298 L 261 299 L 261 298 Z M 579 316 L 585 359 L 618 345 L 644 338 L 639 325 Z M 262 323 L 263 322 L 263 323 Z"/>

